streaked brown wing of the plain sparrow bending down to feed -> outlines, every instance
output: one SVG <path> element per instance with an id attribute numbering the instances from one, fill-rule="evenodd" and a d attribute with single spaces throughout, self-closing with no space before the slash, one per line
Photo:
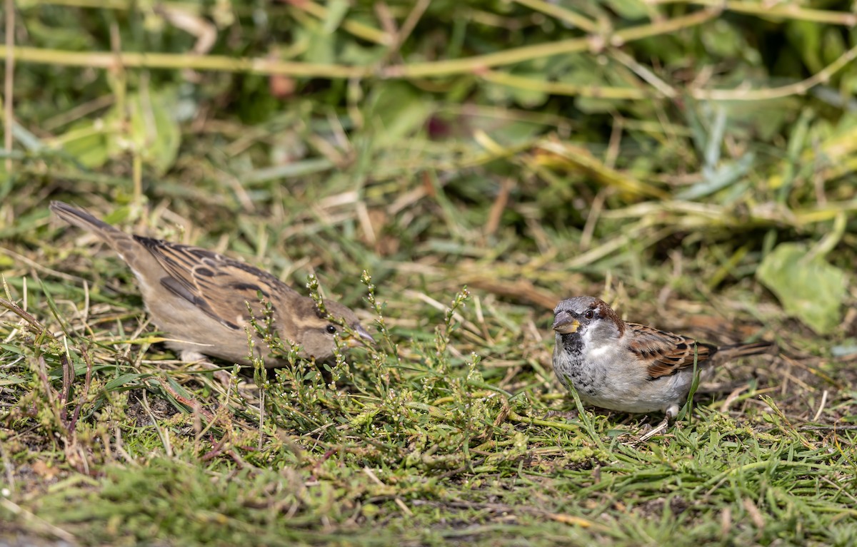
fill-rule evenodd
<path id="1" fill-rule="evenodd" d="M 238 330 L 240 318 L 248 318 L 247 302 L 257 303 L 258 293 L 274 304 L 297 294 L 267 271 L 221 254 L 141 235 L 134 238 L 169 274 L 160 280 L 165 288 L 231 329 Z"/>

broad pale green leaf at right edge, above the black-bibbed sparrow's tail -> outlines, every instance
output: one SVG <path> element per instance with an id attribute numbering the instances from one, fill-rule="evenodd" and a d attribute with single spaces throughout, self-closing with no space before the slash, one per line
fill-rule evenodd
<path id="1" fill-rule="evenodd" d="M 818 334 L 827 334 L 842 323 L 845 272 L 823 258 L 810 257 L 806 245 L 778 245 L 762 260 L 756 276 L 776 294 L 789 315 Z"/>

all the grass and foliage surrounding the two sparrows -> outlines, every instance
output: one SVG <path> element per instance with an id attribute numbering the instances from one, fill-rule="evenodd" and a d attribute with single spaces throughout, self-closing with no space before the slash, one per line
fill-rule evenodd
<path id="1" fill-rule="evenodd" d="M 827 330 L 778 300 L 857 263 L 847 7 L 237 4 L 203 9 L 218 38 L 191 56 L 155 12 L 67 4 L 15 11 L 31 49 L 0 163 L 0 543 L 857 542 L 857 293 L 812 306 Z M 621 50 L 574 49 L 602 23 Z M 88 68 L 111 33 L 200 72 Z M 293 81 L 228 62 L 272 50 Z M 227 393 L 50 199 L 304 294 L 315 278 L 378 343 Z M 815 259 L 771 292 L 759 266 L 792 242 Z M 640 442 L 661 416 L 579 407 L 554 378 L 550 310 L 578 294 L 781 353 L 722 366 Z"/>

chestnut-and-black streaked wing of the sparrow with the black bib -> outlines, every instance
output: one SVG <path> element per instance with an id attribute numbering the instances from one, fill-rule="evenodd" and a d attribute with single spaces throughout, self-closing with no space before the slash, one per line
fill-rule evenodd
<path id="1" fill-rule="evenodd" d="M 696 362 L 701 365 L 717 351 L 716 346 L 696 342 L 687 336 L 653 329 L 644 324 L 627 323 L 632 330 L 631 351 L 649 363 L 649 378 L 675 374 Z"/>

